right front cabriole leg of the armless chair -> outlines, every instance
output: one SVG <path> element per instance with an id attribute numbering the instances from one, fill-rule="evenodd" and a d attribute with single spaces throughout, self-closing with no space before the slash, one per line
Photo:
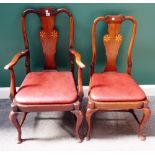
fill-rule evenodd
<path id="1" fill-rule="evenodd" d="M 139 130 L 138 130 L 138 136 L 142 141 L 144 141 L 146 139 L 146 136 L 143 133 L 143 129 L 144 129 L 144 125 L 146 124 L 146 122 L 149 119 L 149 116 L 151 114 L 151 110 L 149 107 L 145 107 L 142 110 L 143 110 L 143 118 L 140 122 Z"/>

